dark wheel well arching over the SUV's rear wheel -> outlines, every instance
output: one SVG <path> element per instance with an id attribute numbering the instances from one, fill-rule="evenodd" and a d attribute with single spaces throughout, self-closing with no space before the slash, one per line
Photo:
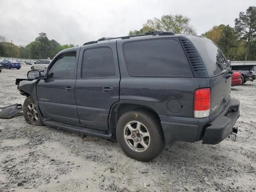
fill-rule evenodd
<path id="1" fill-rule="evenodd" d="M 161 122 L 156 111 L 148 106 L 139 105 L 139 104 L 117 104 L 113 107 L 111 116 L 110 116 L 110 128 L 112 130 L 112 136 L 114 139 L 116 138 L 116 124 L 118 122 L 118 119 L 125 112 L 132 111 L 132 110 L 147 110 L 153 116 L 155 116 L 155 118 L 159 121 L 159 123 Z"/>

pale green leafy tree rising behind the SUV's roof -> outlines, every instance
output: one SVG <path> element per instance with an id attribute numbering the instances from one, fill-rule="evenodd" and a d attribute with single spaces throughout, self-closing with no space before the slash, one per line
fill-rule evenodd
<path id="1" fill-rule="evenodd" d="M 181 14 L 162 15 L 161 18 L 147 20 L 140 30 L 130 31 L 129 35 L 144 34 L 148 31 L 173 32 L 175 34 L 196 34 L 196 30 L 190 24 L 190 18 Z"/>

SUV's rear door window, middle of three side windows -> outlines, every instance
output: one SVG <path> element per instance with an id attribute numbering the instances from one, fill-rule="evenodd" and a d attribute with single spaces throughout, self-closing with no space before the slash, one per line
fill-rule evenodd
<path id="1" fill-rule="evenodd" d="M 94 48 L 84 52 L 82 78 L 115 76 L 113 52 L 110 48 Z"/>

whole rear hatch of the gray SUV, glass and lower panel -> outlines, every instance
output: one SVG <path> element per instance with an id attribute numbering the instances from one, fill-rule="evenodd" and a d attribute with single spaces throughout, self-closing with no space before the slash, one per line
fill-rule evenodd
<path id="1" fill-rule="evenodd" d="M 211 40 L 188 35 L 198 50 L 209 76 L 211 88 L 210 120 L 214 120 L 230 102 L 232 70 L 222 51 Z"/>

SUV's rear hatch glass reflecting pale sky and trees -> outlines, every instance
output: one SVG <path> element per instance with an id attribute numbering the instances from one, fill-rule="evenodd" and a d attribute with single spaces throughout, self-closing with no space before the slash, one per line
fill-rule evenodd
<path id="1" fill-rule="evenodd" d="M 193 35 L 186 36 L 198 50 L 208 76 L 216 76 L 223 70 L 230 70 L 230 64 L 218 46 L 208 38 Z"/>

